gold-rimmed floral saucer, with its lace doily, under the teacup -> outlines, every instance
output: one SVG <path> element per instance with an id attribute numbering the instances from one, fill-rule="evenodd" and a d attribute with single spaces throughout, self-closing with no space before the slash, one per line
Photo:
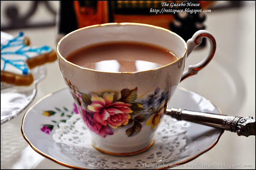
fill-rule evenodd
<path id="1" fill-rule="evenodd" d="M 221 114 L 219 108 L 209 100 L 181 87 L 177 88 L 168 103 L 168 108 L 172 107 Z M 78 123 L 75 124 L 75 122 L 80 119 L 77 113 L 68 89 L 48 94 L 29 108 L 24 115 L 21 126 L 22 135 L 36 152 L 69 168 L 164 169 L 182 167 L 182 164 L 212 149 L 223 133 L 221 129 L 177 121 L 164 115 L 156 131 L 155 143 L 148 151 L 134 156 L 118 157 L 93 150 L 89 132 L 86 129 L 84 136 L 87 140 L 81 142 L 74 137 L 71 142 L 69 139 L 56 142 L 58 140 L 56 136 L 61 138 L 72 130 L 83 129 L 81 121 L 81 126 L 76 127 Z M 175 130 L 173 131 L 172 128 Z M 72 146 L 71 143 L 74 145 Z M 82 145 L 79 146 L 79 144 Z M 161 149 L 166 152 L 163 153 Z"/>

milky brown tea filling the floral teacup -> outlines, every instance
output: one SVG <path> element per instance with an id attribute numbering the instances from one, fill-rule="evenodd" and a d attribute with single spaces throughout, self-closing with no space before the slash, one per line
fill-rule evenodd
<path id="1" fill-rule="evenodd" d="M 177 60 L 172 51 L 139 42 L 107 42 L 86 46 L 66 59 L 84 68 L 105 72 L 152 70 Z"/>

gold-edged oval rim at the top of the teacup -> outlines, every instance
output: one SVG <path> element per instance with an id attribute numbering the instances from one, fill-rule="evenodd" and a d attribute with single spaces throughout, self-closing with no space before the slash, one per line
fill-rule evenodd
<path id="1" fill-rule="evenodd" d="M 60 54 L 60 51 L 59 51 L 60 43 L 61 43 L 61 41 L 63 41 L 65 38 L 67 38 L 70 34 L 75 33 L 75 32 L 78 32 L 78 31 L 81 31 L 81 30 L 84 30 L 84 29 L 88 29 L 88 28 L 93 28 L 93 27 L 98 27 L 98 26 L 109 26 L 109 25 L 137 25 L 137 26 L 147 26 L 147 27 L 152 27 L 152 28 L 164 30 L 164 31 L 166 31 L 166 32 L 168 32 L 168 33 L 171 33 L 171 34 L 173 34 L 173 35 L 176 35 L 178 38 L 180 38 L 181 41 L 183 41 L 184 46 L 185 46 L 184 53 L 183 53 L 177 60 L 175 60 L 174 62 L 169 63 L 169 64 L 167 64 L 167 65 L 158 67 L 158 68 L 156 68 L 156 69 L 144 70 L 144 71 L 134 71 L 134 72 L 108 72 L 108 71 L 99 71 L 99 70 L 88 69 L 88 68 L 84 68 L 84 67 L 81 67 L 81 66 L 78 66 L 78 65 L 76 65 L 76 64 L 74 64 L 74 63 L 69 62 L 68 60 L 66 60 L 66 59 Z M 130 74 L 132 74 L 132 73 L 139 73 L 139 72 L 146 72 L 146 71 L 158 70 L 158 69 L 160 69 L 160 68 L 164 68 L 164 67 L 166 67 L 166 66 L 169 66 L 169 65 L 171 65 L 171 64 L 173 64 L 173 63 L 177 63 L 178 61 L 180 61 L 180 60 L 186 55 L 187 50 L 188 50 L 188 47 L 187 47 L 186 41 L 185 41 L 183 38 L 181 38 L 178 34 L 173 33 L 172 31 L 170 31 L 170 30 L 168 30 L 168 29 L 165 29 L 165 28 L 162 28 L 162 27 L 159 27 L 159 26 L 149 25 L 149 24 L 129 23 L 129 22 L 97 24 L 97 25 L 86 26 L 86 27 L 84 27 L 84 28 L 77 29 L 77 30 L 75 30 L 75 31 L 72 31 L 71 33 L 68 33 L 68 34 L 65 35 L 64 37 L 62 37 L 62 38 L 60 39 L 60 41 L 58 42 L 57 47 L 56 47 L 56 52 L 57 52 L 57 54 L 60 56 L 59 58 L 62 59 L 64 62 L 70 64 L 70 65 L 73 65 L 73 66 L 78 67 L 78 68 L 83 69 L 83 70 L 97 71 L 97 72 L 102 72 L 102 73 L 113 73 L 113 74 L 120 74 L 120 73 L 130 73 Z"/>

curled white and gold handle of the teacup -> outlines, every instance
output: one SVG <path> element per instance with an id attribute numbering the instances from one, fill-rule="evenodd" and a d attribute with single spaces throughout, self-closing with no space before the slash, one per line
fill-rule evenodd
<path id="1" fill-rule="evenodd" d="M 213 37 L 212 33 L 206 31 L 206 30 L 199 30 L 194 35 L 192 38 L 190 38 L 187 41 L 187 46 L 188 46 L 188 53 L 187 53 L 187 58 L 190 53 L 202 43 L 203 38 L 206 38 L 210 42 L 210 52 L 207 55 L 207 57 L 204 58 L 200 63 L 194 64 L 194 65 L 189 65 L 188 70 L 183 71 L 181 80 L 184 80 L 185 78 L 188 78 L 189 76 L 197 74 L 199 70 L 204 68 L 211 60 L 212 57 L 216 51 L 216 41 L 215 38 Z"/>

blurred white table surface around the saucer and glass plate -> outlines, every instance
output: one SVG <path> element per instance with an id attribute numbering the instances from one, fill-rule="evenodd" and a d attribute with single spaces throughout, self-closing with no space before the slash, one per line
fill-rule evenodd
<path id="1" fill-rule="evenodd" d="M 207 13 L 205 25 L 206 30 L 216 38 L 216 54 L 206 68 L 181 82 L 180 86 L 203 95 L 224 115 L 253 116 L 255 119 L 255 2 L 241 9 Z M 5 32 L 18 35 L 20 31 L 30 38 L 32 45 L 56 46 L 57 27 Z M 202 59 L 206 51 L 206 48 L 194 51 L 188 58 L 188 64 Z M 45 67 L 47 75 L 37 85 L 34 100 L 18 116 L 1 125 L 1 169 L 69 169 L 35 152 L 20 131 L 22 118 L 29 107 L 46 94 L 66 87 L 57 61 Z M 187 164 L 198 163 L 240 164 L 235 169 L 255 169 L 255 136 L 239 137 L 236 133 L 225 131 L 216 146 Z M 188 169 L 187 164 L 173 169 Z"/>

